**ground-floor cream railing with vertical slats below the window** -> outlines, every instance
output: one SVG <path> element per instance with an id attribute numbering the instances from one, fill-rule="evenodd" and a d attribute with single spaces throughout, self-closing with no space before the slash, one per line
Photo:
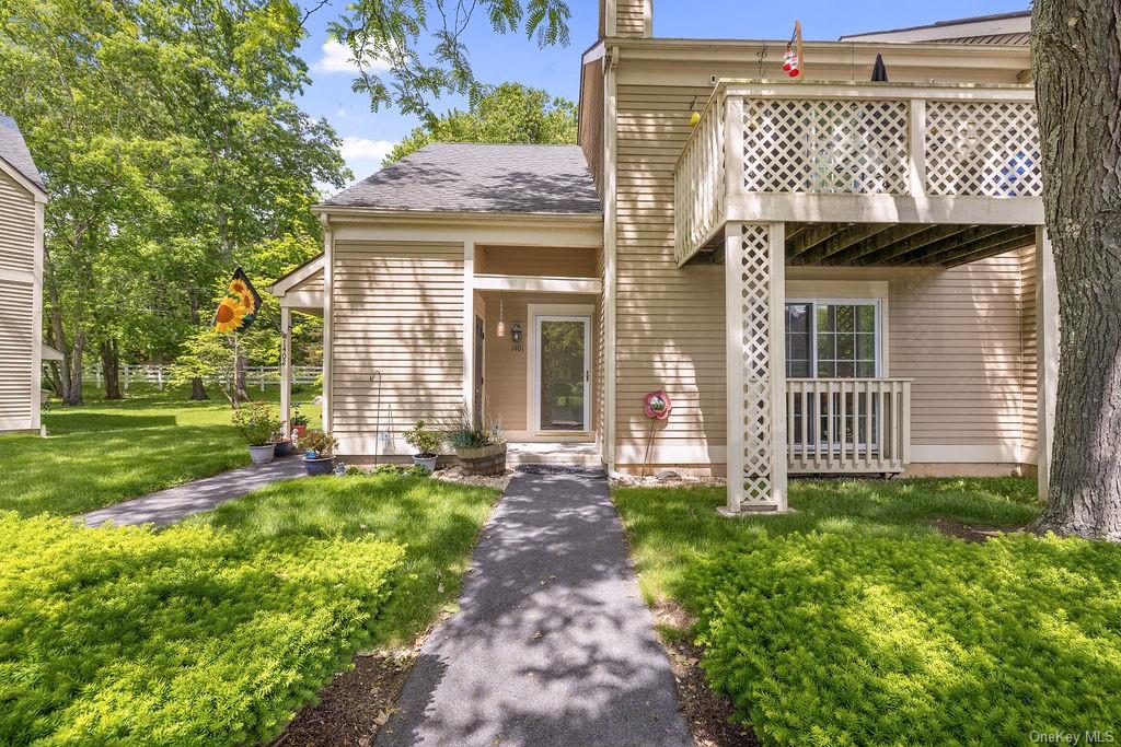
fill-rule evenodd
<path id="1" fill-rule="evenodd" d="M 901 473 L 910 460 L 909 379 L 788 379 L 790 474 Z"/>

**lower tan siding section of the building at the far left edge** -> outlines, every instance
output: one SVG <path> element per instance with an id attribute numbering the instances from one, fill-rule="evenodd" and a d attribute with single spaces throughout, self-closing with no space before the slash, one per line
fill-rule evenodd
<path id="1" fill-rule="evenodd" d="M 0 431 L 34 426 L 35 286 L 0 280 Z"/>

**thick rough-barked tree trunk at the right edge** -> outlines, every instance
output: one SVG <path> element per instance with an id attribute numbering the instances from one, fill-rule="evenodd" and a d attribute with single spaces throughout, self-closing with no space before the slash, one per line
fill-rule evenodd
<path id="1" fill-rule="evenodd" d="M 1032 67 L 1059 297 L 1047 507 L 1032 524 L 1121 541 L 1121 0 L 1036 0 Z"/>

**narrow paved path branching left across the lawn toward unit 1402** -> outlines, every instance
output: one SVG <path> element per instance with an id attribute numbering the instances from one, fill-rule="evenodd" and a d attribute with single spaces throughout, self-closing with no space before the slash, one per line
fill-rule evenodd
<path id="1" fill-rule="evenodd" d="M 299 477 L 304 460 L 298 456 L 274 459 L 267 465 L 250 465 L 240 469 L 204 477 L 166 491 L 142 495 L 123 503 L 91 511 L 78 516 L 86 526 L 98 526 L 112 520 L 118 526 L 151 522 L 159 526 L 172 524 L 192 514 L 240 498 L 257 488 L 278 480 Z"/>

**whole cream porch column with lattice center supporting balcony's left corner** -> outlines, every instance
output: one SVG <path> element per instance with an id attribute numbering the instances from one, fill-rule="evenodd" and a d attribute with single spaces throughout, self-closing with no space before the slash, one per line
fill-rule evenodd
<path id="1" fill-rule="evenodd" d="M 785 235 L 782 223 L 724 230 L 729 514 L 787 510 Z"/>

